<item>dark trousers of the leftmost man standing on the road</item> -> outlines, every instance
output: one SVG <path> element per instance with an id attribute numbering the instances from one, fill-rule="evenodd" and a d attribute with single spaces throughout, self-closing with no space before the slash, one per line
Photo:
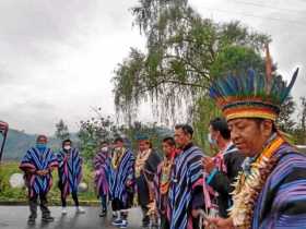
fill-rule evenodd
<path id="1" fill-rule="evenodd" d="M 35 219 L 37 217 L 37 206 L 38 206 L 38 197 L 39 197 L 39 207 L 42 210 L 43 218 L 47 218 L 50 216 L 50 210 L 47 206 L 47 194 L 34 194 L 34 196 L 30 197 L 28 205 L 30 205 L 30 218 Z"/>

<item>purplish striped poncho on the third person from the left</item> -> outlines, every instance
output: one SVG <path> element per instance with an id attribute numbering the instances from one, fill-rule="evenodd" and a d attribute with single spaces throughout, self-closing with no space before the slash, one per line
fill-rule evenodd
<path id="1" fill-rule="evenodd" d="M 108 152 L 98 152 L 94 158 L 95 188 L 98 196 L 108 195 L 111 182 L 111 161 Z"/>

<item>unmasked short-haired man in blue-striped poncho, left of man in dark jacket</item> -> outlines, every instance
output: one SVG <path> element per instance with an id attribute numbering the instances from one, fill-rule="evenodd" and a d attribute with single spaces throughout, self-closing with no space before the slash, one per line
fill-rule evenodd
<path id="1" fill-rule="evenodd" d="M 175 126 L 175 142 L 180 153 L 174 160 L 168 191 L 169 228 L 196 229 L 199 210 L 204 207 L 203 152 L 192 143 L 193 130 L 188 124 Z"/>

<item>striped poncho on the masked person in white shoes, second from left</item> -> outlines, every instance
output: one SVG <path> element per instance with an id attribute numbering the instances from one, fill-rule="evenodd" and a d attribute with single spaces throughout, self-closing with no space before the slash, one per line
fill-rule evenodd
<path id="1" fill-rule="evenodd" d="M 57 159 L 59 186 L 62 189 L 62 196 L 66 197 L 72 192 L 78 192 L 82 179 L 82 158 L 78 149 L 71 148 L 69 153 L 60 152 Z"/>

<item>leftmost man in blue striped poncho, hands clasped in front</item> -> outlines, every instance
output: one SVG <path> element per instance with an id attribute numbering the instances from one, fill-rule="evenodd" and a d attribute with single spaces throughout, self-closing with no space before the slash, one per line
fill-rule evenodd
<path id="1" fill-rule="evenodd" d="M 25 184 L 28 189 L 28 204 L 31 215 L 28 224 L 34 225 L 37 217 L 37 200 L 42 209 L 42 220 L 44 222 L 54 221 L 50 210 L 47 206 L 47 194 L 52 183 L 52 170 L 58 166 L 57 158 L 47 147 L 48 138 L 45 135 L 38 135 L 36 146 L 30 148 L 22 158 L 20 169 L 24 171 Z"/>

